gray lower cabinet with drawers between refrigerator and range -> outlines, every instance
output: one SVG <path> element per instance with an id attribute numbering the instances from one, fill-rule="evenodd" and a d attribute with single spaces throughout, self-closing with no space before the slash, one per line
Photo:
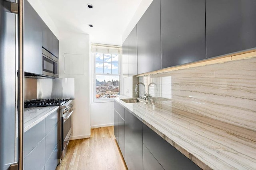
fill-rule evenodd
<path id="1" fill-rule="evenodd" d="M 58 165 L 58 110 L 24 133 L 24 170 L 55 170 Z"/>

